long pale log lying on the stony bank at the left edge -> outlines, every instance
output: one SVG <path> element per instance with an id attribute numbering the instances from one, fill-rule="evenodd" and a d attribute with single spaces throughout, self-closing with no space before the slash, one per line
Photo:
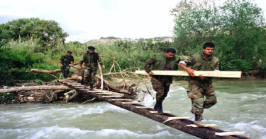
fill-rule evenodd
<path id="1" fill-rule="evenodd" d="M 13 87 L 10 89 L 1 89 L 0 93 L 29 91 L 29 90 L 72 90 L 72 88 L 66 85 L 40 85 L 40 86 Z"/>

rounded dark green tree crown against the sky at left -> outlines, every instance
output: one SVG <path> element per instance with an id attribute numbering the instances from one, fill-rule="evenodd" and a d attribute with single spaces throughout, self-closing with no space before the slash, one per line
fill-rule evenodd
<path id="1" fill-rule="evenodd" d="M 54 20 L 40 20 L 39 18 L 20 18 L 1 25 L 0 37 L 5 40 L 34 39 L 48 50 L 57 42 L 65 42 L 67 33 L 63 32 Z M 48 47 L 50 46 L 50 47 Z"/>

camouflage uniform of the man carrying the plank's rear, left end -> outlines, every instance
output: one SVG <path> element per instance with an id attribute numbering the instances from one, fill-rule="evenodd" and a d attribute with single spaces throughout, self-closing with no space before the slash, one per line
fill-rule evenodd
<path id="1" fill-rule="evenodd" d="M 145 63 L 145 71 L 174 71 L 177 70 L 178 61 L 176 56 L 173 59 L 166 59 L 165 55 L 154 56 Z M 150 67 L 153 66 L 152 70 Z M 152 75 L 151 82 L 153 90 L 156 91 L 156 102 L 163 102 L 172 84 L 172 75 Z"/>

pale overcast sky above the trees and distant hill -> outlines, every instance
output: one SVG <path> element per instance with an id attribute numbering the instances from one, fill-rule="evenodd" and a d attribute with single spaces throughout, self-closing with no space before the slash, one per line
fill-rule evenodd
<path id="1" fill-rule="evenodd" d="M 173 36 L 170 10 L 180 0 L 0 0 L 0 23 L 18 18 L 55 20 L 67 42 L 100 37 Z M 266 1 L 255 0 L 265 11 Z"/>

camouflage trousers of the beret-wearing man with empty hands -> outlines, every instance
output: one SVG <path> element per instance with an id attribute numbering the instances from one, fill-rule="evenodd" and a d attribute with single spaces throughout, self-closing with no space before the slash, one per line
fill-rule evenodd
<path id="1" fill-rule="evenodd" d="M 85 66 L 84 68 L 84 84 L 87 85 L 93 85 L 95 83 L 95 75 L 96 75 L 96 70 L 95 68 L 88 68 Z"/>

